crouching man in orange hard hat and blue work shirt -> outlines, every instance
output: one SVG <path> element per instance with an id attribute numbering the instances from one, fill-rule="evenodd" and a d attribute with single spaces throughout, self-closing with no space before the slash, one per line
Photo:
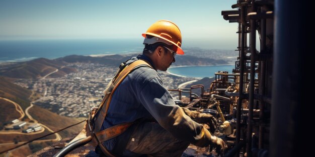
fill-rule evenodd
<path id="1" fill-rule="evenodd" d="M 142 55 L 127 60 L 121 67 L 137 60 L 145 61 L 147 66 L 135 68 L 117 86 L 100 130 L 123 123 L 132 124 L 125 131 L 101 142 L 103 148 L 99 144 L 96 152 L 102 153 L 106 148 L 110 153 L 105 153 L 107 156 L 181 156 L 192 143 L 201 147 L 210 145 L 222 154 L 226 149 L 224 141 L 192 120 L 200 115 L 175 104 L 157 73 L 157 70 L 166 71 L 175 62 L 176 54 L 184 55 L 178 26 L 160 20 L 142 36 Z M 202 114 L 208 117 L 208 124 L 213 129 L 215 118 Z"/>

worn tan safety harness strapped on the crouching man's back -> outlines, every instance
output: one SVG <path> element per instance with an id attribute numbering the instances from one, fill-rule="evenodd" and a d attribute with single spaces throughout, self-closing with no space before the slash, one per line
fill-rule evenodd
<path id="1" fill-rule="evenodd" d="M 109 157 L 115 156 L 107 150 L 107 148 L 102 144 L 102 142 L 120 135 L 125 130 L 127 130 L 127 128 L 131 126 L 134 122 L 127 122 L 114 125 L 104 130 L 101 130 L 101 127 L 106 117 L 109 104 L 111 102 L 112 96 L 116 88 L 130 72 L 139 67 L 152 68 L 152 66 L 144 60 L 136 60 L 128 65 L 126 65 L 126 63 L 122 63 L 115 77 L 107 85 L 107 88 L 104 91 L 105 96 L 103 97 L 101 104 L 99 105 L 99 107 L 93 107 L 90 111 L 88 126 L 89 131 L 91 132 L 92 135 L 92 141 L 93 143 L 95 143 L 94 145 L 98 144 L 103 153 Z"/>

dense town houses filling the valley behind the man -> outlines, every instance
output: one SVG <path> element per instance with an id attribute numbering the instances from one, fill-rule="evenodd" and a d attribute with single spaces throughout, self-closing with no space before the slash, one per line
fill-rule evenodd
<path id="1" fill-rule="evenodd" d="M 75 63 L 67 66 L 77 69 L 78 72 L 60 78 L 21 79 L 15 83 L 43 96 L 33 104 L 59 115 L 87 117 L 90 108 L 98 106 L 101 102 L 103 91 L 114 77 L 117 67 L 93 63 Z M 179 84 L 195 79 L 177 77 L 160 71 L 159 74 L 168 89 L 177 89 Z"/>

